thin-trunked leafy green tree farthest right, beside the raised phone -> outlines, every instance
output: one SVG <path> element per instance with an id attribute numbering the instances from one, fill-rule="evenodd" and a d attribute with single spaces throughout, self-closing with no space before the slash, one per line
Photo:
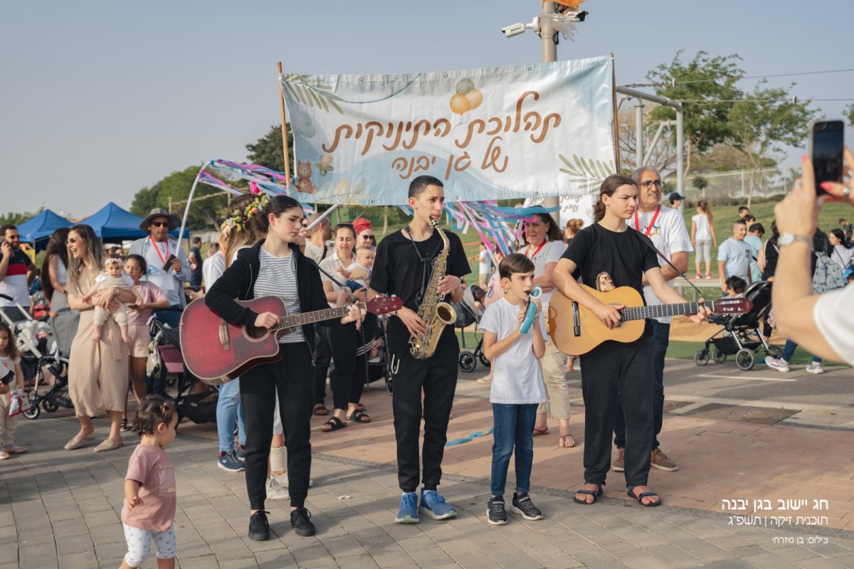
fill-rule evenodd
<path id="1" fill-rule="evenodd" d="M 751 169 L 747 206 L 751 205 L 754 173 L 763 160 L 780 154 L 781 144 L 797 146 L 807 136 L 807 126 L 816 116 L 810 101 L 796 101 L 789 87 L 764 88 L 766 79 L 759 81 L 743 101 L 734 102 L 729 112 L 734 148 L 745 155 Z"/>

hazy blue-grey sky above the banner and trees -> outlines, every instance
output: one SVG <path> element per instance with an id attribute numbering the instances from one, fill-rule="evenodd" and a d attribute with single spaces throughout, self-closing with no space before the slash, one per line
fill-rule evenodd
<path id="1" fill-rule="evenodd" d="M 0 195 L 4 212 L 50 207 L 74 218 L 172 171 L 244 161 L 279 122 L 286 73 L 418 73 L 540 60 L 529 22 L 539 0 L 225 2 L 0 0 Z M 613 52 L 617 84 L 700 49 L 738 54 L 746 75 L 854 67 L 854 3 L 588 0 L 558 57 Z M 755 79 L 740 84 L 751 90 Z M 854 73 L 769 78 L 799 99 L 854 100 Z M 652 92 L 651 89 L 647 89 Z M 850 101 L 816 102 L 841 118 Z M 851 128 L 846 135 L 854 135 Z M 804 141 L 804 149 L 806 141 Z M 804 149 L 792 148 L 784 165 Z"/>

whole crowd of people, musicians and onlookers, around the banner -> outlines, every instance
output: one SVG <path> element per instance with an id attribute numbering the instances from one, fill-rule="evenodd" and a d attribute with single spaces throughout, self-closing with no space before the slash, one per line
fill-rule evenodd
<path id="1" fill-rule="evenodd" d="M 846 160 L 854 169 L 851 154 Z M 813 373 L 821 373 L 815 371 L 816 366 L 821 369 L 819 357 L 854 363 L 854 352 L 845 340 L 851 337 L 851 322 L 839 318 L 843 313 L 839 309 L 854 288 L 816 288 L 816 273 L 834 277 L 848 269 L 851 225 L 840 219 L 839 229 L 829 235 L 816 228 L 811 176 L 805 161 L 804 183 L 776 207 L 768 241 L 762 241 L 763 225 L 742 211 L 732 237 L 718 249 L 722 292 L 738 295 L 752 282 L 774 283 L 776 324 L 792 344 L 781 358 L 769 358 L 769 366 L 781 371 L 788 369 L 796 342 L 816 354 L 812 369 L 807 369 Z M 684 197 L 670 195 L 675 207 L 662 205 L 662 185 L 659 172 L 649 167 L 632 177 L 612 175 L 600 187 L 594 224 L 585 227 L 582 220 L 570 219 L 561 230 L 547 212 L 538 212 L 524 223 L 524 244 L 517 252 L 503 257 L 482 247 L 478 274 L 487 290 L 478 329 L 492 365 L 488 378 L 480 381 L 490 386 L 494 420 L 490 524 L 507 523 L 506 475 L 514 455 L 516 481 L 509 509 L 526 520 L 543 517 L 529 496 L 533 438 L 548 433 L 550 413 L 559 426 L 559 446 L 576 445 L 570 433 L 565 376 L 576 359 L 581 364 L 585 431 L 584 485 L 576 491 L 575 501 L 596 502 L 613 469 L 623 473 L 629 496 L 641 505 L 662 503 L 647 484 L 651 467 L 678 468 L 658 441 L 670 318 L 648 320 L 640 340 L 605 341 L 569 361 L 547 333 L 548 307 L 556 292 L 613 328 L 620 324 L 623 307 L 604 304 L 582 284 L 599 293 L 632 287 L 646 305 L 681 303 L 672 282 L 687 272 L 695 248 L 696 277 L 703 276 L 705 261 L 705 278 L 711 278 L 711 246 L 717 246 L 711 206 L 706 201 L 697 204 L 689 233 L 678 209 Z M 826 189 L 851 199 L 851 186 L 832 184 Z M 414 179 L 409 187 L 412 218 L 378 244 L 366 218 L 333 227 L 321 214 L 306 219 L 302 206 L 290 197 L 251 194 L 231 201 L 219 242 L 209 246 L 204 257 L 198 239 L 189 254 L 184 253 L 169 235 L 178 218 L 160 208 L 143 219 L 140 229 L 147 236 L 134 241 L 126 255 L 120 249 L 105 252 L 85 224 L 58 229 L 51 236 L 42 287 L 51 301 L 57 341 L 62 336 L 69 340 L 68 389 L 79 420 L 79 431 L 65 449 L 87 446 L 95 438 L 92 419 L 103 415 L 110 428 L 94 447 L 96 452 L 122 447 L 127 430 L 141 437 L 125 481 L 122 523 L 128 553 L 123 567 L 139 566 L 149 555 L 152 539 L 159 563 L 173 563 L 176 489 L 173 465 L 164 449 L 175 436 L 178 414 L 172 400 L 150 393 L 146 386 L 150 341 L 146 322 L 153 315 L 177 327 L 187 300 L 196 295 L 203 296 L 205 305 L 225 322 L 255 328 L 272 328 L 281 315 L 255 313 L 236 300 L 275 295 L 291 314 L 347 307 L 341 318 L 279 334 L 278 360 L 256 365 L 242 378 L 219 386 L 217 463 L 230 472 L 245 471 L 250 538 L 270 537 L 267 499 L 290 499 L 295 532 L 314 534 L 305 507 L 313 485 L 311 416 L 329 416 L 322 433 L 371 421 L 360 399 L 368 358 L 380 344 L 389 351 L 390 373 L 398 378 L 392 394 L 401 489 L 395 522 L 418 523 L 420 514 L 436 520 L 457 514 L 438 486 L 459 343 L 449 326 L 430 340 L 427 357 L 410 345 L 413 339 L 427 338 L 436 325 L 422 313 L 422 305 L 436 299 L 459 303 L 471 271 L 459 236 L 436 226 L 443 204 L 440 180 Z M 0 307 L 11 316 L 10 311 L 17 310 L 15 303 L 25 309 L 30 304 L 26 287 L 35 267 L 19 254 L 20 235 L 14 226 L 4 227 L 3 237 L 0 293 L 13 301 L 7 299 Z M 798 278 L 776 281 L 778 271 Z M 826 284 L 830 277 L 822 275 Z M 541 289 L 538 297 L 532 294 L 535 287 Z M 814 293 L 828 290 L 821 296 Z M 377 317 L 366 314 L 359 304 L 381 295 L 395 295 L 402 302 L 389 316 L 384 333 Z M 814 317 L 798 318 L 793 306 Z M 707 314 L 701 305 L 690 318 L 699 323 Z M 0 363 L 3 369 L 14 370 L 15 386 L 22 389 L 25 378 L 14 333 L 3 322 Z M 331 410 L 326 407 L 327 376 Z M 11 390 L 0 384 L 0 459 L 26 451 L 14 442 L 15 417 L 9 416 L 13 399 L 7 395 Z M 127 413 L 129 392 L 137 403 L 133 415 Z"/>

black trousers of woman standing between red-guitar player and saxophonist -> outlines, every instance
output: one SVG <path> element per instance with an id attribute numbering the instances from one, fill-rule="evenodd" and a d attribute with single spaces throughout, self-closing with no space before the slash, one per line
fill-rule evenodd
<path id="1" fill-rule="evenodd" d="M 367 338 L 367 337 L 366 337 Z M 348 403 L 359 403 L 367 377 L 367 362 L 363 354 L 356 356 L 362 345 L 362 333 L 355 322 L 330 328 L 330 347 L 335 368 L 330 374 L 332 404 L 335 409 L 347 409 Z"/>

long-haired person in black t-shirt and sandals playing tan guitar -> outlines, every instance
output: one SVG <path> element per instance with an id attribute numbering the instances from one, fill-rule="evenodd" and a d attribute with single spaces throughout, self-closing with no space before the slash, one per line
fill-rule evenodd
<path id="1" fill-rule="evenodd" d="M 567 322 L 566 315 L 558 313 L 561 303 L 555 302 L 559 299 L 559 294 L 555 293 L 550 307 L 556 321 L 552 326 L 563 327 L 561 333 L 570 336 L 586 333 L 602 336 L 601 343 L 594 342 L 592 349 L 586 347 L 572 352 L 581 354 L 582 394 L 586 406 L 586 484 L 576 491 L 575 501 L 585 504 L 592 504 L 601 496 L 605 476 L 611 467 L 617 389 L 623 395 L 626 419 L 625 477 L 629 496 L 644 506 L 661 503 L 658 494 L 646 486 L 652 451 L 652 332 L 646 326 L 640 338 L 634 341 L 608 340 L 609 330 L 620 326 L 625 306 L 619 303 L 618 292 L 611 293 L 617 304 L 606 304 L 609 303 L 608 293 L 588 288 L 597 284 L 610 288 L 611 283 L 617 287 L 631 287 L 642 305 L 641 278 L 646 276 L 658 299 L 665 303 L 683 302 L 679 293 L 664 280 L 649 237 L 627 224 L 634 218 L 637 206 L 635 180 L 618 174 L 606 177 L 594 206 L 596 223 L 578 232 L 553 273 L 554 286 L 559 293 L 571 299 L 573 308 L 580 305 L 587 310 L 578 311 Z M 582 282 L 587 287 L 582 287 L 572 277 L 576 270 L 580 270 Z M 699 308 L 699 314 L 691 319 L 701 322 L 705 315 L 705 309 Z M 560 334 L 552 335 L 555 344 L 566 351 L 561 345 Z"/>

